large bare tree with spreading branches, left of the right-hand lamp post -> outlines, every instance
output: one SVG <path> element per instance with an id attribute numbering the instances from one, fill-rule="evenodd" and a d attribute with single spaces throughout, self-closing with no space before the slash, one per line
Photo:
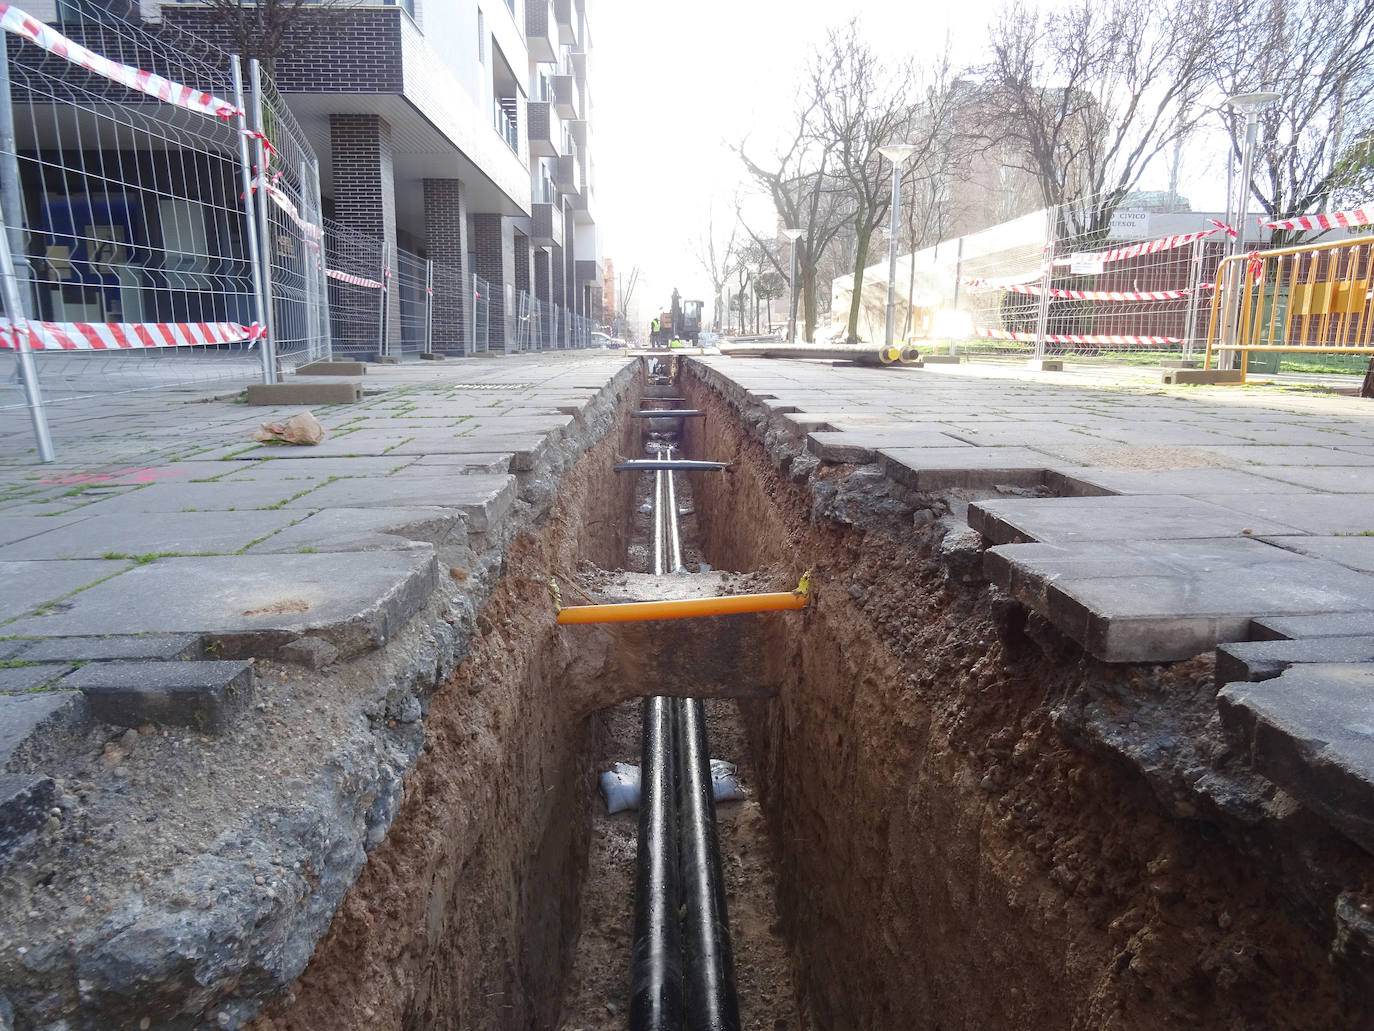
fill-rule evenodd
<path id="1" fill-rule="evenodd" d="M 1103 235 L 1154 158 L 1205 115 L 1210 25 L 1208 0 L 1002 8 L 984 69 L 989 140 L 1011 144 L 1062 231 Z"/>

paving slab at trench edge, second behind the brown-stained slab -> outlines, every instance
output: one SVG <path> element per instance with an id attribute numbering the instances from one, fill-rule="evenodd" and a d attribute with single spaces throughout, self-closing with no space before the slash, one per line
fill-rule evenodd
<path id="1" fill-rule="evenodd" d="M 436 507 L 458 509 L 467 525 L 486 532 L 515 500 L 515 477 L 497 474 L 452 474 L 426 472 L 407 476 L 398 473 L 385 480 L 335 480 L 290 502 L 287 510 L 311 509 L 376 509 L 376 507 Z M 300 505 L 298 505 L 300 503 Z"/>

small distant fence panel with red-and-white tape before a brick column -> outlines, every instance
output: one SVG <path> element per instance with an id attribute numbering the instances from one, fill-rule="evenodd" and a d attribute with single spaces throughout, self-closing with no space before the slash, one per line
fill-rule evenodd
<path id="1" fill-rule="evenodd" d="M 385 247 L 376 236 L 324 219 L 330 335 L 335 353 L 367 360 L 382 345 L 386 302 Z"/>

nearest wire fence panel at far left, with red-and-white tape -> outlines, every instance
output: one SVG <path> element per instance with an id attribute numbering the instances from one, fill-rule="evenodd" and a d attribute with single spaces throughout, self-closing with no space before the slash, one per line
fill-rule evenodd
<path id="1" fill-rule="evenodd" d="M 4 27 L 7 308 L 25 329 L 3 342 L 23 338 L 44 403 L 261 378 L 231 59 L 96 7 L 58 26 L 11 7 Z M 0 408 L 25 404 L 18 381 L 0 377 Z"/>

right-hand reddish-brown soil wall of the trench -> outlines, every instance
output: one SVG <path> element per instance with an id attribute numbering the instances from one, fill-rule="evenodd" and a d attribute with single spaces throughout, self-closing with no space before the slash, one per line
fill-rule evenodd
<path id="1" fill-rule="evenodd" d="M 1186 818 L 1070 741 L 1084 698 L 1123 729 L 1142 698 L 1186 713 L 1209 660 L 1085 657 L 999 598 L 976 551 L 941 551 L 956 498 L 816 467 L 710 377 L 683 377 L 708 412 L 687 454 L 736 465 L 694 480 L 703 550 L 780 580 L 815 566 L 813 606 L 772 642 L 780 696 L 741 702 L 809 1026 L 1374 1024 L 1352 973 L 1369 957 L 1330 917 L 1374 887 L 1370 856 L 1272 795 L 1264 819 Z"/>

